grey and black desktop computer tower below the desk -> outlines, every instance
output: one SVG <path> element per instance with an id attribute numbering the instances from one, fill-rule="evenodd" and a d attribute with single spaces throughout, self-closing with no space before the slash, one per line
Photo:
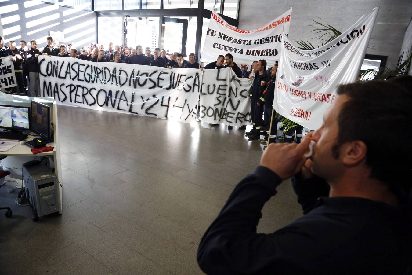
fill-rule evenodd
<path id="1" fill-rule="evenodd" d="M 58 212 L 57 184 L 54 173 L 42 162 L 23 166 L 23 180 L 26 196 L 35 219 Z"/>

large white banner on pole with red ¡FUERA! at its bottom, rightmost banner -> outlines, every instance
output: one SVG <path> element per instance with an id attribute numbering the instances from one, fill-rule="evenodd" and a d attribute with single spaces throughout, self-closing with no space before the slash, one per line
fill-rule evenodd
<path id="1" fill-rule="evenodd" d="M 273 108 L 309 129 L 318 129 L 340 84 L 356 82 L 378 8 L 363 15 L 330 43 L 303 51 L 283 36 Z M 372 100 L 372 99 L 371 99 Z"/>

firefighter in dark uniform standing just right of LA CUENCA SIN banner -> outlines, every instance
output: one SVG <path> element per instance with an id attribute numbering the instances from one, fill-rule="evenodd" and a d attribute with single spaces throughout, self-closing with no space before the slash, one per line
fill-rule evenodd
<path id="1" fill-rule="evenodd" d="M 250 116 L 252 118 L 252 131 L 245 135 L 249 136 L 249 140 L 260 139 L 260 129 L 262 128 L 262 114 L 265 105 L 263 98 L 264 87 L 270 81 L 270 76 L 266 72 L 266 60 L 261 59 L 256 65 L 255 81 L 253 82 L 252 91 L 249 94 L 250 102 L 252 102 L 252 110 Z"/>

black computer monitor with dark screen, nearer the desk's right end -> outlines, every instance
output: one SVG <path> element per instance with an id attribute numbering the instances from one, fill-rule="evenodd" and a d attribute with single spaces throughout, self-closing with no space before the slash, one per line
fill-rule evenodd
<path id="1" fill-rule="evenodd" d="M 31 130 L 38 134 L 44 141 L 50 138 L 50 106 L 30 101 L 31 110 Z"/>

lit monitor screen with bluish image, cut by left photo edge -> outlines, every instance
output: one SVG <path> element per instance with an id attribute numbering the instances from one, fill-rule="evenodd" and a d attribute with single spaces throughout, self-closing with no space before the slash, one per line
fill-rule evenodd
<path id="1" fill-rule="evenodd" d="M 0 105 L 0 127 L 14 130 L 30 129 L 30 108 Z"/>

